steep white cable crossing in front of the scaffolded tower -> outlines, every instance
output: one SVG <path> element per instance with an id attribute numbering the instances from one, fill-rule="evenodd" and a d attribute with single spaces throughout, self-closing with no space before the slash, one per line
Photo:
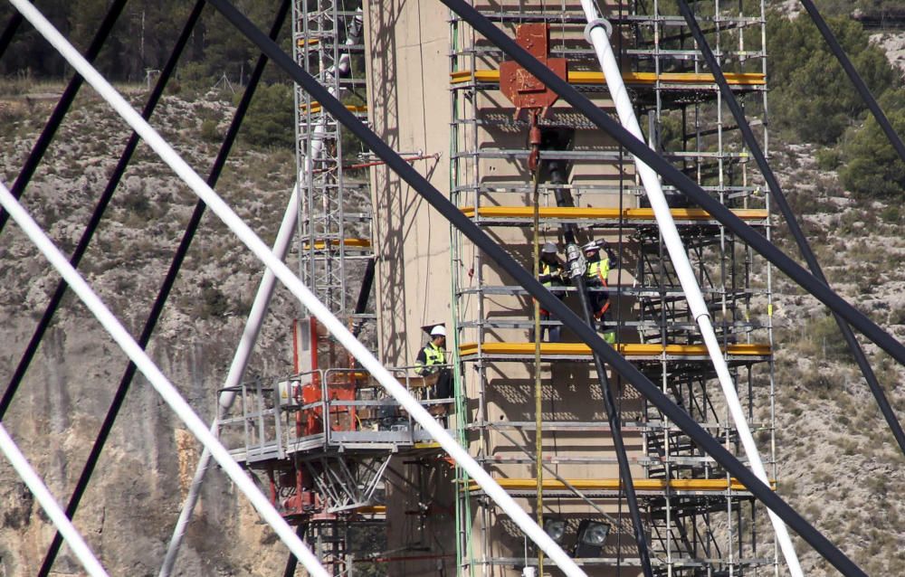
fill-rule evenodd
<path id="1" fill-rule="evenodd" d="M 632 133 L 633 137 L 643 142 L 644 137 L 641 127 L 638 125 L 638 119 L 634 115 L 632 100 L 625 90 L 622 71 L 619 69 L 619 63 L 616 61 L 613 47 L 610 45 L 609 34 L 612 33 L 613 28 L 600 17 L 594 0 L 581 0 L 581 6 L 585 11 L 588 23 L 586 37 L 588 42 L 594 46 L 597 61 L 600 62 L 600 68 L 604 72 L 606 85 L 609 87 L 610 95 L 614 100 L 619 121 L 626 130 Z M 679 236 L 679 231 L 676 229 L 675 222 L 672 220 L 672 213 L 670 212 L 669 203 L 666 202 L 666 198 L 663 195 L 660 178 L 653 168 L 645 165 L 637 156 L 634 156 L 634 162 L 638 167 L 638 174 L 641 176 L 647 198 L 651 202 L 654 216 L 662 233 L 663 242 L 666 244 L 666 250 L 669 251 L 670 259 L 676 270 L 676 276 L 679 277 L 682 291 L 688 300 L 691 314 L 700 327 L 700 334 L 704 339 L 704 345 L 707 346 L 707 352 L 716 370 L 719 386 L 726 397 L 729 413 L 735 422 L 736 430 L 738 430 L 738 439 L 741 440 L 741 444 L 745 449 L 745 455 L 748 458 L 752 472 L 764 484 L 769 486 L 767 470 L 764 468 L 760 453 L 757 451 L 757 444 L 751 435 L 751 430 L 748 428 L 745 411 L 741 406 L 741 402 L 738 401 L 738 393 L 732 382 L 732 376 L 729 374 L 729 367 L 723 357 L 723 352 L 719 348 L 719 340 L 713 330 L 710 311 L 704 303 L 698 280 L 694 275 L 694 270 L 691 268 L 691 261 L 685 252 L 685 247 Z M 798 562 L 798 555 L 795 553 L 795 546 L 792 544 L 792 538 L 789 536 L 786 524 L 773 511 L 767 509 L 767 514 L 770 516 L 770 521 L 776 532 L 779 547 L 786 558 L 789 572 L 793 577 L 803 577 L 804 572 L 802 572 L 801 563 Z"/>

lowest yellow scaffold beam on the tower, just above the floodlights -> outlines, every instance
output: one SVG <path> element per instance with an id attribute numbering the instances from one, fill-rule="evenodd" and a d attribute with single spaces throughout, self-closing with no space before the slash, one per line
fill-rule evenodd
<path id="1" fill-rule="evenodd" d="M 495 479 L 500 487 L 511 491 L 529 491 L 538 487 L 536 478 L 498 478 Z M 618 478 L 573 478 L 566 479 L 568 485 L 575 487 L 579 491 L 617 491 L 622 486 L 622 482 Z M 567 491 L 569 487 L 566 483 L 557 480 L 545 478 L 542 479 L 542 485 L 545 491 Z M 733 478 L 728 481 L 725 478 L 700 478 L 700 479 L 659 479 L 659 478 L 636 478 L 632 481 L 633 487 L 638 491 L 664 491 L 670 488 L 674 491 L 747 491 L 748 488 Z M 770 487 L 776 489 L 776 481 L 770 481 Z M 468 486 L 470 491 L 480 491 L 481 487 L 477 483 L 471 481 Z"/>

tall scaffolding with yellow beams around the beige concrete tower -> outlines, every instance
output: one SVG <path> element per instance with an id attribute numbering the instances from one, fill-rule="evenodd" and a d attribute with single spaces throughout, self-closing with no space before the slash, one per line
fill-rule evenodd
<path id="1" fill-rule="evenodd" d="M 546 24 L 549 56 L 567 59 L 567 80 L 600 106 L 610 106 L 594 53 L 583 39 L 586 21 L 580 6 L 475 4 L 513 36 L 521 24 Z M 650 146 L 769 237 L 767 194 L 749 174 L 747 151 L 736 127 L 724 121 L 719 87 L 705 71 L 678 10 L 657 0 L 604 4 L 624 80 L 638 117 L 647 120 Z M 766 118 L 764 3 L 691 4 L 732 90 L 750 116 Z M 454 14 L 450 22 L 452 202 L 528 270 L 533 243 L 553 241 L 563 247 L 567 225 L 578 231 L 579 243 L 609 241 L 618 265 L 609 286 L 598 290 L 609 294 L 607 322 L 616 331 L 617 349 L 743 458 L 631 156 L 567 105 L 557 104 L 540 121 L 539 158 L 545 169 L 538 184 L 532 183 L 525 166 L 529 122 L 517 118 L 500 93 L 501 52 Z M 761 126 L 766 149 L 766 122 Z M 554 164 L 567 166 L 567 182 L 552 182 L 549 167 Z M 532 200 L 536 186 L 537 209 Z M 709 214 L 665 189 L 768 474 L 775 478 L 770 267 Z M 535 319 L 527 292 L 481 260 L 481 253 L 455 230 L 452 260 L 460 439 L 538 518 L 565 523 L 564 546 L 576 555 L 592 551 L 578 559 L 587 571 L 608 574 L 622 566 L 633 567 L 630 574 L 639 572 L 602 400 L 589 386 L 594 379 L 589 349 L 562 342 L 542 343 L 536 350 L 529 340 Z M 576 300 L 574 290 L 563 294 L 567 302 Z M 532 398 L 538 372 L 544 436 L 539 447 L 537 400 Z M 758 534 L 768 526 L 763 522 L 766 510 L 617 377 L 614 391 L 654 574 L 778 572 L 776 545 Z M 763 410 L 758 417 L 767 416 L 756 421 L 755 407 Z M 492 502 L 461 480 L 456 502 L 459 574 L 513 574 L 542 563 Z M 589 522 L 608 526 L 605 544 L 596 550 L 576 542 L 576 531 Z"/>

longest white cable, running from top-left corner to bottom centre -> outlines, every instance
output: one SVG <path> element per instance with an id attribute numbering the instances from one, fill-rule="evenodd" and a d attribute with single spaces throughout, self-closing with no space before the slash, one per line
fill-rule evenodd
<path id="1" fill-rule="evenodd" d="M 112 86 L 110 86 L 110 83 L 107 80 L 104 80 L 100 73 L 94 70 L 88 61 L 85 61 L 84 58 L 81 57 L 81 54 L 79 54 L 79 52 L 77 52 L 55 28 L 53 28 L 52 24 L 44 19 L 43 15 L 38 12 L 31 3 L 27 2 L 27 0 L 10 0 L 10 2 L 22 12 L 24 17 L 33 24 L 39 33 L 41 33 L 43 37 L 62 54 L 63 58 L 69 61 L 71 66 L 90 83 L 94 90 L 98 91 L 101 98 L 107 100 L 110 103 L 110 106 L 112 106 L 113 109 L 116 109 L 119 115 L 129 123 L 129 126 L 145 140 L 149 147 L 157 152 L 157 155 L 160 156 L 174 172 L 176 172 L 176 175 L 179 175 L 183 181 L 188 184 L 195 194 L 197 194 L 208 207 L 210 207 L 211 211 L 214 212 L 241 241 L 243 241 L 254 255 L 262 260 L 269 269 L 273 270 L 276 277 L 281 280 L 286 288 L 289 289 L 296 298 L 299 298 L 301 304 L 317 317 L 321 324 L 337 338 L 339 344 L 343 345 L 348 352 L 361 363 L 362 367 L 386 389 L 387 393 L 393 396 L 395 400 L 408 411 L 409 415 L 433 437 L 433 439 L 437 440 L 440 446 L 449 453 L 450 457 L 452 457 L 452 459 L 455 460 L 472 477 L 472 479 L 474 479 L 487 496 L 491 497 L 491 499 L 510 516 L 516 525 L 519 525 L 522 532 L 524 532 L 531 541 L 537 544 L 544 553 L 547 553 L 554 563 L 557 563 L 562 572 L 568 577 L 586 577 L 586 573 L 576 565 L 575 561 L 572 560 L 558 544 L 550 539 L 549 535 L 534 522 L 521 506 L 519 506 L 493 478 L 491 478 L 487 471 L 481 468 L 481 465 L 468 454 L 468 451 L 462 448 L 462 446 L 459 445 L 445 429 L 443 429 L 443 426 L 440 425 L 440 423 L 433 420 L 430 413 L 428 413 L 424 407 L 421 406 L 421 403 L 405 389 L 405 386 L 400 384 L 395 377 L 386 370 L 383 364 L 380 364 L 380 361 L 367 350 L 365 345 L 358 342 L 357 338 L 349 332 L 342 321 L 335 317 L 298 277 L 292 274 L 291 270 L 289 270 L 289 268 L 267 248 L 261 239 L 252 232 L 248 225 L 245 224 L 238 215 L 233 213 L 233 210 L 224 203 L 223 199 L 214 193 L 214 190 L 208 186 L 199 175 L 195 174 L 195 171 L 176 154 L 176 151 L 157 134 L 157 131 L 155 131 L 154 128 L 151 128 L 148 122 L 146 122 L 144 118 L 141 118 L 135 109 L 132 109 L 129 106 L 129 103 L 123 99 Z M 114 318 L 113 320 L 115 321 L 116 319 Z M 117 323 L 117 325 L 119 326 L 119 323 Z M 119 328 L 121 329 L 121 326 L 119 326 Z M 134 343 L 134 341 L 132 342 Z M 138 348 L 138 353 L 143 354 L 140 348 Z M 153 364 L 151 366 L 154 370 L 157 370 L 157 367 L 153 366 Z M 164 378 L 164 382 L 169 384 L 166 381 L 166 378 Z M 169 386 L 172 388 L 172 385 Z M 181 397 L 179 397 L 179 399 L 181 400 Z M 187 405 L 186 409 L 191 412 L 191 409 L 188 408 Z M 195 415 L 194 412 L 191 414 Z M 207 440 L 212 443 L 211 452 L 214 454 L 214 459 L 217 459 L 219 450 L 223 450 L 225 453 L 225 449 L 220 445 L 219 441 L 214 438 L 210 431 L 206 429 L 204 423 L 197 419 L 196 415 L 195 420 L 197 426 L 192 428 L 192 432 L 194 432 L 195 436 L 199 439 L 203 439 L 202 442 Z M 214 450 L 214 447 L 218 448 L 218 450 Z M 228 453 L 225 453 L 225 456 L 229 458 Z M 238 465 L 236 465 L 232 459 L 230 459 L 229 462 L 238 469 Z M 221 463 L 221 465 L 223 465 L 223 463 Z M 226 467 L 224 467 L 224 469 L 226 469 Z M 238 470 L 241 472 L 241 469 Z M 249 478 L 243 477 L 243 479 L 251 483 Z M 257 494 L 261 496 L 260 492 Z M 270 503 L 266 503 L 266 505 L 271 511 L 276 513 Z M 286 529 L 291 531 L 289 525 L 286 525 L 282 518 L 280 518 L 280 522 L 282 525 L 285 525 Z M 294 535 L 295 534 L 292 533 L 292 536 Z M 282 536 L 283 535 L 281 534 L 281 537 Z M 286 542 L 285 539 L 284 542 Z M 302 545 L 302 547 L 304 547 L 304 545 Z M 302 563 L 305 563 L 306 559 L 313 559 L 307 548 L 305 548 L 305 552 L 307 554 L 303 558 L 299 556 L 299 553 L 293 551 L 293 553 L 296 553 L 296 555 L 299 556 Z M 314 561 L 316 563 L 317 560 Z M 320 569 L 322 570 L 322 567 Z M 326 573 L 318 572 L 317 574 Z"/>

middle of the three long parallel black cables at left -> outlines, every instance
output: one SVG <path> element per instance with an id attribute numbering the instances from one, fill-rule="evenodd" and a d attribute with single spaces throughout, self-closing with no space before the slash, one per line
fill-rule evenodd
<path id="1" fill-rule="evenodd" d="M 179 61 L 179 56 L 185 49 L 186 43 L 188 43 L 189 37 L 191 36 L 198 17 L 201 15 L 201 10 L 204 5 L 205 0 L 198 0 L 192 13 L 189 14 L 186 26 L 176 40 L 176 46 L 170 53 L 166 66 L 160 71 L 160 76 L 157 79 L 154 90 L 151 91 L 150 96 L 148 96 L 148 101 L 145 104 L 145 108 L 141 111 L 141 118 L 147 120 L 154 113 L 154 109 L 157 108 L 157 103 L 160 101 L 160 97 L 163 96 L 164 89 L 167 88 L 167 82 L 176 70 L 176 63 Z M 117 166 L 114 167 L 113 172 L 110 174 L 110 178 L 107 181 L 107 187 L 104 189 L 103 194 L 100 195 L 100 199 L 95 205 L 94 211 L 91 213 L 90 220 L 88 221 L 84 232 L 81 234 L 81 239 L 79 239 L 79 244 L 75 247 L 75 250 L 72 251 L 72 256 L 69 260 L 72 267 L 76 269 L 79 268 L 81 259 L 85 255 L 85 252 L 88 251 L 90 241 L 100 226 L 100 220 L 107 211 L 110 199 L 116 192 L 117 186 L 119 186 L 119 180 L 122 178 L 122 175 L 125 174 L 126 168 L 129 167 L 129 162 L 132 159 L 132 155 L 135 153 L 136 147 L 138 147 L 139 141 L 140 138 L 138 137 L 138 134 L 133 132 L 132 136 L 129 137 L 129 142 L 126 143 L 126 147 L 119 156 Z M 47 332 L 47 328 L 50 326 L 57 308 L 60 307 L 60 302 L 62 301 L 63 295 L 66 294 L 66 289 L 68 287 L 69 285 L 66 284 L 66 281 L 63 279 L 57 284 L 56 290 L 53 292 L 50 301 L 47 303 L 47 307 L 44 309 L 41 320 L 38 321 L 38 326 L 34 329 L 31 340 L 28 342 L 28 345 L 25 346 L 25 351 L 19 359 L 19 364 L 16 365 L 15 372 L 9 380 L 9 383 L 6 385 L 3 397 L 0 398 L 0 421 L 3 421 L 6 411 L 9 410 L 10 403 L 13 402 L 14 395 L 22 384 L 22 380 L 24 379 L 26 371 L 28 371 L 29 365 L 32 363 L 34 354 L 37 352 L 38 346 L 41 345 L 43 336 Z"/>

